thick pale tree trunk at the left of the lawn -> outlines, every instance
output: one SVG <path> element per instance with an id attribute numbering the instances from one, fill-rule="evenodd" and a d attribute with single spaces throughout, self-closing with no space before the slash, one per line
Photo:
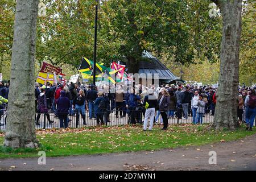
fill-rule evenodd
<path id="1" fill-rule="evenodd" d="M 39 0 L 16 1 L 5 146 L 38 146 L 35 135 L 35 49 Z"/>

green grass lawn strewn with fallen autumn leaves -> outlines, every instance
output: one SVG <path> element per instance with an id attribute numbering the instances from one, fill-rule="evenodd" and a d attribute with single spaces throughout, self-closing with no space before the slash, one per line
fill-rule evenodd
<path id="1" fill-rule="evenodd" d="M 152 131 L 143 131 L 141 126 L 39 130 L 36 135 L 42 146 L 37 149 L 6 148 L 2 146 L 4 137 L 0 137 L 0 158 L 36 157 L 38 151 L 45 151 L 47 157 L 151 151 L 226 142 L 255 133 L 255 129 L 246 131 L 244 126 L 235 131 L 210 131 L 209 125 L 172 125 L 167 131 L 160 130 L 160 126 Z"/>

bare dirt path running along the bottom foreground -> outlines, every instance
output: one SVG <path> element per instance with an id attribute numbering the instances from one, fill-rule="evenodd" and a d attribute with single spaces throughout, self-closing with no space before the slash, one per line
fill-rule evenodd
<path id="1" fill-rule="evenodd" d="M 217 165 L 209 165 L 209 151 L 216 151 Z M 46 158 L 46 165 L 38 158 L 0 161 L 1 170 L 256 170 L 256 135 L 200 147 Z"/>

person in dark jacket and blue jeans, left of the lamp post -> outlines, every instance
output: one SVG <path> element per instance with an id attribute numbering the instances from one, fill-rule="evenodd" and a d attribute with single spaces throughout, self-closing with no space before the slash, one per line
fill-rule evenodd
<path id="1" fill-rule="evenodd" d="M 73 100 L 73 106 L 76 109 L 76 125 L 79 125 L 79 114 L 82 115 L 83 124 L 86 125 L 85 122 L 85 94 L 84 90 L 80 89 L 79 94 Z"/>

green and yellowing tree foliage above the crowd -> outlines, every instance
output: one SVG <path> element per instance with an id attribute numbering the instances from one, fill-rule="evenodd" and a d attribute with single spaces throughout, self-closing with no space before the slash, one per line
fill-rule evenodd
<path id="1" fill-rule="evenodd" d="M 81 56 L 93 59 L 96 1 L 43 2 L 47 14 L 46 17 L 38 17 L 36 62 L 39 65 L 36 71 L 42 61 L 55 65 L 69 64 L 76 69 Z M 208 5 L 211 2 L 102 1 L 98 10 L 97 61 L 104 62 L 106 66 L 109 66 L 110 60 L 126 61 L 127 57 L 139 61 L 142 60 L 142 51 L 146 49 L 166 64 L 187 66 L 188 72 L 191 63 L 208 61 L 216 65 L 220 59 L 222 18 L 209 17 Z M 247 2 L 242 15 L 240 82 L 250 85 L 256 82 L 255 2 Z M 16 2 L 0 0 L 0 5 L 0 65 L 3 65 L 0 72 L 4 80 L 9 80 Z M 204 72 L 207 71 L 198 75 L 205 77 Z M 212 80 L 216 80 L 216 74 L 214 71 Z"/>

